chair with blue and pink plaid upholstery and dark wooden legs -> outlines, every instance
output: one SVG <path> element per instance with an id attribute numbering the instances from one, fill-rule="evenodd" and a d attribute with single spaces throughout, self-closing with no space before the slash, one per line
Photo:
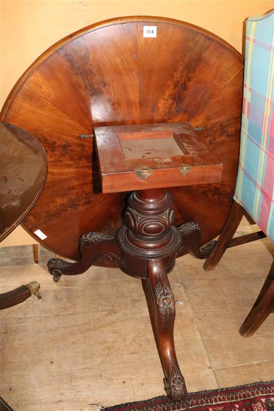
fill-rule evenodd
<path id="1" fill-rule="evenodd" d="M 228 247 L 263 237 L 274 242 L 274 11 L 250 17 L 246 56 L 240 158 L 234 202 L 204 270 L 213 270 Z M 247 212 L 262 231 L 233 238 Z M 252 335 L 274 311 L 274 265 L 240 334 Z"/>

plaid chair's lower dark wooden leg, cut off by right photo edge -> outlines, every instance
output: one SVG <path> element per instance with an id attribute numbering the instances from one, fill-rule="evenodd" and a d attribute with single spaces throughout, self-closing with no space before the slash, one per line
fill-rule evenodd
<path id="1" fill-rule="evenodd" d="M 274 312 L 274 262 L 254 306 L 239 330 L 240 334 L 243 337 L 253 335 L 271 312 Z"/>

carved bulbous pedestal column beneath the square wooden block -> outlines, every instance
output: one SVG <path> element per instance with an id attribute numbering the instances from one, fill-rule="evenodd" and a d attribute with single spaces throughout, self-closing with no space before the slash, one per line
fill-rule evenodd
<path id="1" fill-rule="evenodd" d="M 174 223 L 172 197 L 163 189 L 134 191 L 126 209 L 126 225 L 117 242 L 121 249 L 121 269 L 139 278 L 147 277 L 147 260 L 162 259 L 169 273 L 181 243 Z"/>

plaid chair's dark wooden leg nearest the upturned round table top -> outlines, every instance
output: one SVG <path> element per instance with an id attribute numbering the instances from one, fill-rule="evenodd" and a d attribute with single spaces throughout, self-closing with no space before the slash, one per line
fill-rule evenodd
<path id="1" fill-rule="evenodd" d="M 230 213 L 224 228 L 218 238 L 218 241 L 209 257 L 206 259 L 203 269 L 205 271 L 214 270 L 221 258 L 223 257 L 232 237 L 234 236 L 244 215 L 243 207 L 236 201 L 233 201 Z"/>

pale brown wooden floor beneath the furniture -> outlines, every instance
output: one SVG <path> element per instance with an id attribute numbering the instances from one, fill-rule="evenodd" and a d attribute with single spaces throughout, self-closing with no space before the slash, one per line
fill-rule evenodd
<path id="1" fill-rule="evenodd" d="M 1 311 L 0 395 L 15 411 L 91 411 L 164 394 L 138 279 L 93 267 L 54 283 L 45 249 L 38 265 L 30 246 L 1 257 L 1 292 L 35 279 L 43 295 Z M 253 337 L 238 333 L 272 261 L 268 239 L 228 250 L 209 273 L 191 256 L 177 260 L 169 280 L 189 392 L 274 379 L 274 315 Z"/>

